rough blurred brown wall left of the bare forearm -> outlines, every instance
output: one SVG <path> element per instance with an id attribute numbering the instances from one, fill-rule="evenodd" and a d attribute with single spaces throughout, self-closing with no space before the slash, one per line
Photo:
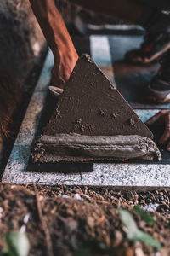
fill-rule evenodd
<path id="1" fill-rule="evenodd" d="M 45 40 L 29 0 L 0 1 L 0 137 L 8 136 L 24 82 L 37 63 Z M 11 127 L 10 127 L 11 128 Z M 0 149 L 1 154 L 1 149 Z"/>

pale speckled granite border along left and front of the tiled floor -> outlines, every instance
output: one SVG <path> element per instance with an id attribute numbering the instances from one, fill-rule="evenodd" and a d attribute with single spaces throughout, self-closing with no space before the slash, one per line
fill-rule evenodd
<path id="1" fill-rule="evenodd" d="M 94 60 L 95 61 L 95 60 Z M 56 172 L 26 171 L 31 154 L 31 143 L 37 131 L 43 104 L 50 82 L 50 71 L 53 67 L 53 55 L 49 51 L 36 90 L 26 111 L 25 119 L 14 143 L 8 164 L 3 174 L 3 183 L 41 183 L 48 185 L 91 185 L 114 186 L 124 189 L 170 187 L 170 165 L 162 164 L 92 164 L 92 172 L 65 174 Z M 136 110 L 140 119 L 146 121 L 159 110 Z M 60 170 L 62 171 L 62 170 Z M 69 170 L 68 170 L 69 171 Z"/>

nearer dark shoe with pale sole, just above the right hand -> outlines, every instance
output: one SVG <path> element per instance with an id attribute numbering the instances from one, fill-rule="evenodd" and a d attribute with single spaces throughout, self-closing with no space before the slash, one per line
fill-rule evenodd
<path id="1" fill-rule="evenodd" d="M 161 68 L 148 86 L 147 99 L 158 104 L 170 102 L 170 51 L 164 57 Z"/>

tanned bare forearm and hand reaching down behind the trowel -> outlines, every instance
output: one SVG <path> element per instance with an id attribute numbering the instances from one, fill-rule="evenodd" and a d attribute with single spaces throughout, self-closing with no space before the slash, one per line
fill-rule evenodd
<path id="1" fill-rule="evenodd" d="M 54 0 L 30 0 L 30 3 L 54 54 L 52 84 L 63 88 L 77 62 L 77 51 Z"/>

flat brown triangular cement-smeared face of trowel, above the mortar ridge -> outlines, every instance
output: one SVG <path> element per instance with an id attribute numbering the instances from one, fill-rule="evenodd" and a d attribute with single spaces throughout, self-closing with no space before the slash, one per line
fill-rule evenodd
<path id="1" fill-rule="evenodd" d="M 43 132 L 44 135 L 56 133 L 153 137 L 88 55 L 77 61 Z"/>

